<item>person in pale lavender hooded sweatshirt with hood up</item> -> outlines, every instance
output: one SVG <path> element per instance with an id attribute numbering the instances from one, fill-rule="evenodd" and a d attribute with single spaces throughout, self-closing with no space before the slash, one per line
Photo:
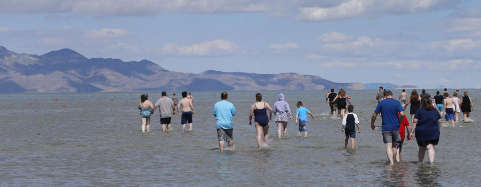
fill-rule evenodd
<path id="1" fill-rule="evenodd" d="M 278 137 L 281 137 L 281 132 L 283 131 L 284 127 L 284 134 L 283 137 L 287 136 L 287 115 L 289 114 L 290 119 L 292 120 L 292 113 L 291 108 L 289 108 L 289 104 L 284 101 L 284 94 L 279 94 L 277 97 L 277 101 L 274 103 L 272 107 L 273 112 L 276 114 L 276 123 L 277 123 L 277 133 Z"/>

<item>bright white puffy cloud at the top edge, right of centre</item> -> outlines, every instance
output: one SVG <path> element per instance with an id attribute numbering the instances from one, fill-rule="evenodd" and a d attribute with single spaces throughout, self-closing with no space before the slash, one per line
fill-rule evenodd
<path id="1" fill-rule="evenodd" d="M 303 7 L 300 21 L 323 22 L 356 17 L 377 18 L 443 9 L 460 1 L 450 0 L 350 0 L 333 7 Z"/>

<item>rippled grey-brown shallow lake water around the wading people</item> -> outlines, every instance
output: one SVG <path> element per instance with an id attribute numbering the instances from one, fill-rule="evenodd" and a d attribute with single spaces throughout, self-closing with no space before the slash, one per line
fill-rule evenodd
<path id="1" fill-rule="evenodd" d="M 481 90 L 467 91 L 474 121 L 441 128 L 435 163 L 415 163 L 414 140 L 404 141 L 402 161 L 393 166 L 387 164 L 380 128 L 369 128 L 375 90 L 347 91 L 361 125 L 354 150 L 344 148 L 341 120 L 328 115 L 321 91 L 283 91 L 293 113 L 301 100 L 316 119 L 309 118 L 307 138 L 297 137 L 294 121 L 289 121 L 289 137 L 277 138 L 277 125 L 271 122 L 262 149 L 249 125 L 257 92 L 229 92 L 237 114 L 234 150 L 226 151 L 218 150 L 211 114 L 220 92 L 192 92 L 192 131 L 181 132 L 175 117 L 173 130 L 162 132 L 156 111 L 147 133 L 140 131 L 137 109 L 142 93 L 0 94 L 0 185 L 479 186 L 481 119 L 476 108 Z M 272 105 L 281 92 L 262 93 Z M 397 98 L 400 91 L 394 93 Z M 160 97 L 160 92 L 148 94 L 152 102 Z M 376 126 L 380 123 L 378 118 Z"/>

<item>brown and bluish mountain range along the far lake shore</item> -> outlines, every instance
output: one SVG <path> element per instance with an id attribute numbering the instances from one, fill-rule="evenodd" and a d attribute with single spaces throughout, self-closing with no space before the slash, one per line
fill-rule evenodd
<path id="1" fill-rule="evenodd" d="M 43 55 L 19 54 L 0 46 L 0 93 L 214 91 L 214 90 L 323 90 L 364 89 L 362 83 L 337 83 L 297 73 L 257 74 L 169 71 L 141 60 L 124 62 L 91 58 L 61 49 Z"/>

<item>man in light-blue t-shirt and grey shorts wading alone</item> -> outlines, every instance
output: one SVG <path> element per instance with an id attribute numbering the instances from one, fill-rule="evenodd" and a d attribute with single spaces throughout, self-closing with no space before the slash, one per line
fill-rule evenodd
<path id="1" fill-rule="evenodd" d="M 212 109 L 212 115 L 216 118 L 217 139 L 219 140 L 220 150 L 224 150 L 224 141 L 231 149 L 234 145 L 232 138 L 232 116 L 235 115 L 235 108 L 231 102 L 227 101 L 227 92 L 220 94 L 221 101 L 215 103 Z"/>

